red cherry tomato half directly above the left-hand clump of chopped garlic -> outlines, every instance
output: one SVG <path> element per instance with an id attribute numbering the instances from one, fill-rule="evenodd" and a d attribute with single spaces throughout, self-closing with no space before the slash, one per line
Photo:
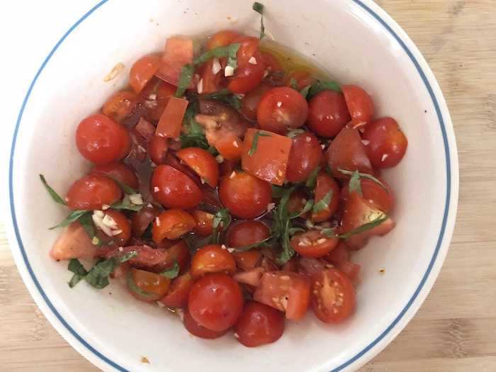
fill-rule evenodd
<path id="1" fill-rule="evenodd" d="M 100 210 L 102 205 L 111 205 L 122 196 L 120 187 L 101 174 L 82 176 L 67 191 L 67 206 L 71 209 Z"/>

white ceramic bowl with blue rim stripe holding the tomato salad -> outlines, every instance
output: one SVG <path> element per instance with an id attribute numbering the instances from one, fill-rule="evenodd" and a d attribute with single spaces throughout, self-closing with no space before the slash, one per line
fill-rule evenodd
<path id="1" fill-rule="evenodd" d="M 26 286 L 58 332 L 104 371 L 351 371 L 405 327 L 441 269 L 456 215 L 458 159 L 446 103 L 417 47 L 370 0 L 264 5 L 269 35 L 339 81 L 364 86 L 378 115 L 393 116 L 405 131 L 407 154 L 385 172 L 398 225 L 356 255 L 363 271 L 351 320 L 332 326 L 309 315 L 258 349 L 232 336 L 193 338 L 176 317 L 139 303 L 118 283 L 103 291 L 85 283 L 70 289 L 67 265 L 48 256 L 59 232 L 47 230 L 67 210 L 47 197 L 38 174 L 63 193 L 88 169 L 74 146 L 77 123 L 125 84 L 137 57 L 161 50 L 167 36 L 259 28 L 251 1 L 101 1 L 62 36 L 33 79 L 13 137 L 9 185 L 11 247 Z M 104 82 L 117 62 L 125 73 Z"/>

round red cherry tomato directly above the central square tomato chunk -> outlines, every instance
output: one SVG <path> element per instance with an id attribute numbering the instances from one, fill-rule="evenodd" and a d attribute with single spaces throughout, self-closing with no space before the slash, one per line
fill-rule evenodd
<path id="1" fill-rule="evenodd" d="M 288 128 L 305 124 L 308 103 L 299 91 L 287 86 L 278 86 L 261 97 L 257 108 L 259 127 L 284 134 Z"/>

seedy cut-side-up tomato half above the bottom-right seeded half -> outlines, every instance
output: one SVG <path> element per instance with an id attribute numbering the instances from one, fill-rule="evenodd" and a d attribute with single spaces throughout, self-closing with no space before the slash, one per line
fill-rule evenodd
<path id="1" fill-rule="evenodd" d="M 320 230 L 298 232 L 291 238 L 291 247 L 303 257 L 325 257 L 339 243 L 337 237 L 327 237 Z"/>

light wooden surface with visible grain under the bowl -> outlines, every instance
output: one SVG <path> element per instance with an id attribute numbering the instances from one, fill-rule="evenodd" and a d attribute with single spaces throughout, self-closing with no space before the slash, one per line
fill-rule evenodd
<path id="1" fill-rule="evenodd" d="M 451 110 L 460 157 L 453 242 L 434 289 L 372 371 L 496 371 L 496 1 L 382 0 Z M 31 300 L 0 225 L 0 371 L 89 372 Z"/>

